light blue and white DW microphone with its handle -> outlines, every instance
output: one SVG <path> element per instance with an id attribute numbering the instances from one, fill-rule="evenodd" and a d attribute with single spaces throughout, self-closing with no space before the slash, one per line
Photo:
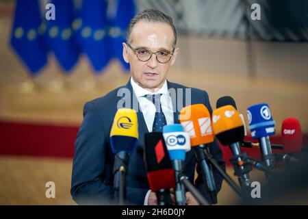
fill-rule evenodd
<path id="1" fill-rule="evenodd" d="M 163 131 L 172 166 L 175 170 L 175 198 L 177 205 L 185 205 L 186 203 L 183 185 L 185 185 L 201 205 L 209 205 L 202 194 L 196 190 L 194 185 L 188 180 L 188 177 L 185 177 L 183 173 L 185 153 L 190 151 L 189 134 L 184 132 L 183 126 L 179 124 L 165 125 Z"/>

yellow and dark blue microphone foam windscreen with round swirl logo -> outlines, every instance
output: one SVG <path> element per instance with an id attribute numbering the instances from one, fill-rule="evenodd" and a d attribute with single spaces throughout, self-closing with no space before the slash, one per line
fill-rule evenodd
<path id="1" fill-rule="evenodd" d="M 131 153 L 138 143 L 138 119 L 135 110 L 119 109 L 114 116 L 110 131 L 110 144 L 113 153 L 127 151 Z"/>

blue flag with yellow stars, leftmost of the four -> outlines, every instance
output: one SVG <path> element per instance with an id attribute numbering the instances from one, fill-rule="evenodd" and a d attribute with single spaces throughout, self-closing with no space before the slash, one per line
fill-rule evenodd
<path id="1" fill-rule="evenodd" d="M 47 64 L 43 27 L 38 0 L 16 0 L 10 44 L 31 75 Z"/>

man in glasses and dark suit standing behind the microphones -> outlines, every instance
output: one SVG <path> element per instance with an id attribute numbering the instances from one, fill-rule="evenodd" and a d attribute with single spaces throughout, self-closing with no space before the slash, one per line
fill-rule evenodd
<path id="1" fill-rule="evenodd" d="M 116 88 L 84 107 L 84 121 L 75 142 L 70 191 L 77 203 L 112 203 L 114 154 L 110 146 L 110 130 L 118 108 L 129 107 L 137 111 L 139 143 L 129 159 L 127 201 L 135 205 L 157 204 L 146 178 L 144 133 L 162 131 L 164 125 L 179 123 L 179 112 L 186 105 L 203 103 L 211 113 L 207 92 L 166 80 L 179 52 L 176 43 L 177 32 L 172 19 L 158 10 L 144 10 L 129 23 L 123 58 L 130 64 L 131 79 L 126 86 Z M 147 98 L 149 95 L 155 96 L 159 104 Z M 209 148 L 225 169 L 217 140 L 209 144 Z M 195 168 L 198 177 L 194 182 Z M 193 150 L 185 157 L 185 175 L 209 199 Z M 219 191 L 222 177 L 215 170 L 214 179 Z M 186 192 L 186 198 L 188 205 L 198 205 L 190 192 Z"/>

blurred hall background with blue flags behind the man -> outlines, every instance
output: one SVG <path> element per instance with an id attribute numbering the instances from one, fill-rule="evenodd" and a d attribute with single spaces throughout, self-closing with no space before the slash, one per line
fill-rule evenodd
<path id="1" fill-rule="evenodd" d="M 55 20 L 47 21 L 48 3 Z M 252 18 L 253 3 L 261 20 Z M 271 142 L 281 143 L 282 121 L 296 117 L 308 145 L 308 1 L 1 0 L 0 205 L 75 205 L 70 179 L 84 103 L 127 83 L 121 42 L 146 8 L 170 15 L 179 33 L 170 81 L 206 90 L 214 109 L 232 96 L 245 116 L 248 106 L 268 103 Z M 221 147 L 233 176 L 231 151 Z M 258 149 L 246 152 L 259 159 Z M 45 196 L 47 181 L 55 198 Z M 234 203 L 224 182 L 218 205 Z"/>

